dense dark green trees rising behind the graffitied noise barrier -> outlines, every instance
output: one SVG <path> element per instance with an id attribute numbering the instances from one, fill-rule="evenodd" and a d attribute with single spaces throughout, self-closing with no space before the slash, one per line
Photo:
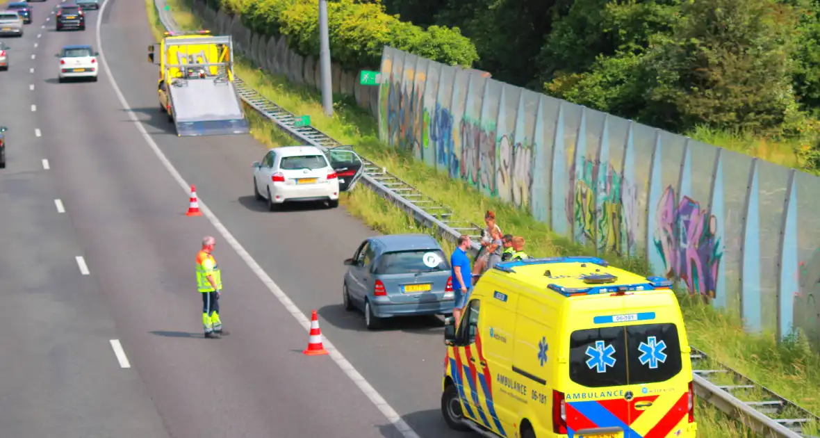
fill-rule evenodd
<path id="1" fill-rule="evenodd" d="M 604 112 L 677 132 L 817 131 L 820 0 L 382 2 L 458 25 L 496 79 Z"/>

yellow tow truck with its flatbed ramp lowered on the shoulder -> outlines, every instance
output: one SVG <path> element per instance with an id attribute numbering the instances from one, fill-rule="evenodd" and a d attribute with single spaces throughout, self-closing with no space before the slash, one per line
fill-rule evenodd
<path id="1" fill-rule="evenodd" d="M 250 132 L 236 94 L 233 60 L 230 35 L 209 30 L 166 32 L 148 46 L 148 62 L 159 66 L 159 107 L 177 136 Z"/>

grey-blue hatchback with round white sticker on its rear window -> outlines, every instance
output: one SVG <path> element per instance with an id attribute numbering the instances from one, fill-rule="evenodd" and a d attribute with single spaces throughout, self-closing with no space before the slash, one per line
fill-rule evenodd
<path id="1" fill-rule="evenodd" d="M 384 318 L 453 313 L 450 264 L 430 235 L 380 235 L 344 261 L 343 301 L 374 330 Z"/>

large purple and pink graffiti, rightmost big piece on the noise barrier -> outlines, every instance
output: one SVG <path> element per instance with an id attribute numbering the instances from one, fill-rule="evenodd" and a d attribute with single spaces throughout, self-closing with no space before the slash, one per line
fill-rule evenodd
<path id="1" fill-rule="evenodd" d="M 675 190 L 667 187 L 655 217 L 654 247 L 667 278 L 685 281 L 690 294 L 715 297 L 717 267 L 723 257 L 716 232 L 713 214 L 688 196 L 676 202 Z"/>

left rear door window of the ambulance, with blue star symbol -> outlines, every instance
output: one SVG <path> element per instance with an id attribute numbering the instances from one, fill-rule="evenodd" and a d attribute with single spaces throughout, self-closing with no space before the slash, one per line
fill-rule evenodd
<path id="1" fill-rule="evenodd" d="M 628 383 L 623 327 L 573 331 L 569 348 L 569 376 L 577 384 L 603 388 Z"/>

